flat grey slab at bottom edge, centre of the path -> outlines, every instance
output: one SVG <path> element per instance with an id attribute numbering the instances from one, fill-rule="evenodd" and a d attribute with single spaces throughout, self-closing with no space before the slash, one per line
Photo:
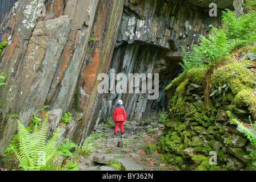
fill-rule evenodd
<path id="1" fill-rule="evenodd" d="M 145 164 L 129 158 L 120 158 L 117 162 L 122 164 L 122 171 L 149 171 L 150 169 Z"/>

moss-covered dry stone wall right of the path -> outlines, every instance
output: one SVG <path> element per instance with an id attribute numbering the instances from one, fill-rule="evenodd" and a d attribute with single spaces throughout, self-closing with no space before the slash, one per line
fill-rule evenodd
<path id="1" fill-rule="evenodd" d="M 252 147 L 231 119 L 248 122 L 248 116 L 253 112 L 246 105 L 238 107 L 234 104 L 235 95 L 230 88 L 211 97 L 210 109 L 207 110 L 201 73 L 201 69 L 195 68 L 166 88 L 165 92 L 172 92 L 170 113 L 164 122 L 165 130 L 157 150 L 163 154 L 166 163 L 183 170 L 245 169 L 249 160 L 243 156 L 249 154 Z M 237 80 L 234 78 L 234 81 Z M 213 152 L 217 164 L 212 163 Z"/>

